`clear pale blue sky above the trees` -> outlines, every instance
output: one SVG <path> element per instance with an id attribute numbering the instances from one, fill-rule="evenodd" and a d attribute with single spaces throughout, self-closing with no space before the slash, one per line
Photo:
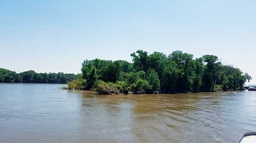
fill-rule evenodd
<path id="1" fill-rule="evenodd" d="M 0 67 L 80 72 L 142 49 L 214 54 L 256 84 L 256 0 L 0 0 Z"/>

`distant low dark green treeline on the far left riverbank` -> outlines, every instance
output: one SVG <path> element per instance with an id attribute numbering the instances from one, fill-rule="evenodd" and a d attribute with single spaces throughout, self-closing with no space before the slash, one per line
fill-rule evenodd
<path id="1" fill-rule="evenodd" d="M 34 70 L 16 73 L 0 68 L 0 82 L 7 83 L 62 83 L 72 81 L 78 75 L 73 73 L 36 73 Z"/>

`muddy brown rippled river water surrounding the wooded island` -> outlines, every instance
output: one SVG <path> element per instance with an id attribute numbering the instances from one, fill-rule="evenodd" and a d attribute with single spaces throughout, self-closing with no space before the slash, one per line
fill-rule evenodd
<path id="1" fill-rule="evenodd" d="M 236 143 L 256 131 L 256 92 L 97 95 L 0 84 L 0 143 Z"/>

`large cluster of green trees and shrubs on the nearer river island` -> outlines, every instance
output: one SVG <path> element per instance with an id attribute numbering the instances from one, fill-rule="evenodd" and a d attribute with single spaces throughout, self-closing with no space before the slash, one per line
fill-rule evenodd
<path id="1" fill-rule="evenodd" d="M 224 65 L 214 55 L 193 58 L 192 54 L 137 50 L 133 63 L 110 60 L 85 60 L 82 77 L 68 82 L 69 89 L 94 89 L 100 94 L 186 93 L 218 90 L 243 90 L 251 77 L 238 68 Z"/>

